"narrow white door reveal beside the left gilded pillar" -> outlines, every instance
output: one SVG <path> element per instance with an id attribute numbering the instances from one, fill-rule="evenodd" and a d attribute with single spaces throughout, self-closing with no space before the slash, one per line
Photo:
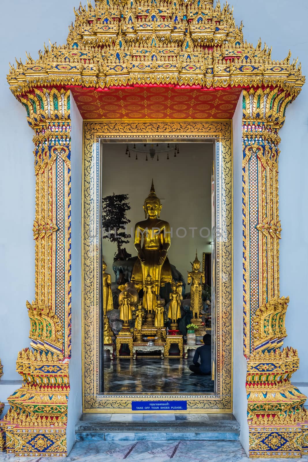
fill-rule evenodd
<path id="1" fill-rule="evenodd" d="M 66 428 L 67 450 L 75 443 L 75 423 L 82 413 L 81 377 L 81 203 L 83 120 L 71 95 L 71 360 Z"/>

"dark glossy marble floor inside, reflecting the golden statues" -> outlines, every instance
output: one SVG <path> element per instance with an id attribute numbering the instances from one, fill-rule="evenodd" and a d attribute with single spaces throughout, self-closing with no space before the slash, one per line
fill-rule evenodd
<path id="1" fill-rule="evenodd" d="M 190 364 L 191 360 L 176 358 L 105 359 L 104 393 L 213 393 L 211 377 L 192 374 Z"/>

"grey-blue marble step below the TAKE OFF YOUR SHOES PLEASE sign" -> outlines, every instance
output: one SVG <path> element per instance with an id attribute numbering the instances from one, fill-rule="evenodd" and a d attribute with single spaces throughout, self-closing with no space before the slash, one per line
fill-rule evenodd
<path id="1" fill-rule="evenodd" d="M 76 441 L 237 441 L 232 414 L 83 414 Z"/>

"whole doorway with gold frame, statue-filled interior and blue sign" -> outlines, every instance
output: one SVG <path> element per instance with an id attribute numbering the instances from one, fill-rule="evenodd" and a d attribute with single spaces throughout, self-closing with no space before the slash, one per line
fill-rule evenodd
<path id="1" fill-rule="evenodd" d="M 84 411 L 231 412 L 231 164 L 230 121 L 84 122 Z M 153 263 L 145 281 L 136 265 L 147 201 L 170 226 L 160 234 L 170 278 L 159 287 Z M 205 334 L 211 374 L 190 377 L 189 353 Z"/>

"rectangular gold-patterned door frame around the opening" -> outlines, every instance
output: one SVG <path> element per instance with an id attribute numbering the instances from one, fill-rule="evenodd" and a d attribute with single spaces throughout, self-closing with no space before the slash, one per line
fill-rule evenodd
<path id="1" fill-rule="evenodd" d="M 213 140 L 216 164 L 216 393 L 107 395 L 100 393 L 101 141 Z M 131 401 L 187 400 L 187 413 L 232 411 L 232 139 L 231 120 L 85 121 L 83 124 L 82 370 L 83 412 L 132 412 Z M 136 411 L 134 411 L 136 412 Z M 143 411 L 142 411 L 143 412 Z M 151 411 L 153 412 L 153 411 Z M 166 411 L 169 412 L 169 411 Z M 173 412 L 173 411 L 172 411 Z M 183 411 L 180 411 L 183 412 Z"/>

